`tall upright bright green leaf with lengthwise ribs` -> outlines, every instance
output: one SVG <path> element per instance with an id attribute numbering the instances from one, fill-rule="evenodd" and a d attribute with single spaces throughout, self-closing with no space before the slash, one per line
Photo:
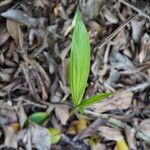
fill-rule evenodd
<path id="1" fill-rule="evenodd" d="M 79 11 L 75 14 L 75 28 L 71 43 L 69 66 L 70 89 L 74 105 L 80 104 L 90 70 L 90 42 Z"/>

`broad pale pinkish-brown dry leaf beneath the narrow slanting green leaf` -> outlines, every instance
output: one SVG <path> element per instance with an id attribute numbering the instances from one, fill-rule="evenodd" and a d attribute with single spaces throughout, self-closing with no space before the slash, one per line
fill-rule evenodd
<path id="1" fill-rule="evenodd" d="M 94 112 L 102 113 L 106 111 L 110 111 L 113 109 L 120 109 L 125 110 L 131 107 L 133 98 L 133 93 L 126 93 L 124 95 L 121 95 L 120 97 L 117 97 L 115 101 L 111 101 L 111 99 L 97 103 L 90 108 L 94 110 Z"/>

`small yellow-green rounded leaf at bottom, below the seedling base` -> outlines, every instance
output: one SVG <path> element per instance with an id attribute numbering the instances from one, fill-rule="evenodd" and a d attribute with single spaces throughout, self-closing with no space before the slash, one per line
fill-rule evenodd
<path id="1" fill-rule="evenodd" d="M 51 134 L 51 144 L 56 144 L 61 139 L 61 131 L 56 128 L 49 128 L 49 132 Z"/>

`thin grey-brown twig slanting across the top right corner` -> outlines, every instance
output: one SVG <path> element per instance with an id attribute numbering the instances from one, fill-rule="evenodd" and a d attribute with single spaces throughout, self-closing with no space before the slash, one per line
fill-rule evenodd
<path id="1" fill-rule="evenodd" d="M 150 16 L 148 16 L 145 12 L 143 12 L 142 10 L 138 9 L 137 7 L 135 7 L 134 5 L 126 2 L 125 0 L 118 0 L 120 3 L 126 5 L 127 7 L 135 10 L 136 12 L 138 12 L 140 15 L 144 16 L 145 18 L 150 20 Z"/>

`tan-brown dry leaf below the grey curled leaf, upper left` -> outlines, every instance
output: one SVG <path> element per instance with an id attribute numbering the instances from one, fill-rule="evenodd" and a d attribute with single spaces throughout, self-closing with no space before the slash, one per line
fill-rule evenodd
<path id="1" fill-rule="evenodd" d="M 11 37 L 15 40 L 16 44 L 20 47 L 23 46 L 24 35 L 20 29 L 20 23 L 7 19 L 7 30 Z"/>

